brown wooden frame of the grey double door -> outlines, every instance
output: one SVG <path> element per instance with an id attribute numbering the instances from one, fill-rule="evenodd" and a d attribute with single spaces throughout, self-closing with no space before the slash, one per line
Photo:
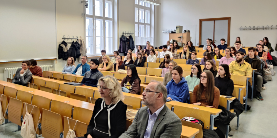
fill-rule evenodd
<path id="1" fill-rule="evenodd" d="M 199 19 L 199 46 L 201 45 L 201 32 L 202 32 L 202 22 L 203 21 L 215 21 L 216 20 L 228 20 L 228 36 L 227 36 L 227 45 L 230 47 L 230 28 L 231 28 L 231 17 L 223 17 L 223 18 L 209 18 L 209 19 Z M 214 37 L 213 37 L 214 39 Z M 214 41 L 214 40 L 213 40 Z"/>

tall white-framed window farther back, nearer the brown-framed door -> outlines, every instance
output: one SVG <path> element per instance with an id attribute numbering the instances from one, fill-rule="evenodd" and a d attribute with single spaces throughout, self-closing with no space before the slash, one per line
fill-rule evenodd
<path id="1" fill-rule="evenodd" d="M 146 41 L 151 44 L 153 41 L 150 37 L 150 11 L 149 3 L 135 0 L 135 45 L 146 45 Z"/>

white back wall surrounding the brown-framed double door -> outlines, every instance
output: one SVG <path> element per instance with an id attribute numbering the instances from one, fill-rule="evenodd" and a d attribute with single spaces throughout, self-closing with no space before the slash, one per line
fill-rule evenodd
<path id="1" fill-rule="evenodd" d="M 155 42 L 161 46 L 169 39 L 168 33 L 162 33 L 164 29 L 175 29 L 176 26 L 191 26 L 189 28 L 194 46 L 199 43 L 199 19 L 231 17 L 230 44 L 235 43 L 240 36 L 243 46 L 255 46 L 259 40 L 268 37 L 272 47 L 277 43 L 277 30 L 245 30 L 240 31 L 241 26 L 276 26 L 277 1 L 267 0 L 156 0 L 161 6 L 156 6 L 156 30 Z M 261 5 L 261 6 L 260 6 Z M 193 30 L 192 26 L 196 25 Z M 188 29 L 188 28 L 186 28 Z M 184 30 L 184 28 L 183 28 Z M 193 35 L 194 33 L 194 35 Z M 196 34 L 196 36 L 195 36 Z M 219 43 L 216 45 L 219 45 Z M 277 52 L 273 52 L 276 55 Z"/>

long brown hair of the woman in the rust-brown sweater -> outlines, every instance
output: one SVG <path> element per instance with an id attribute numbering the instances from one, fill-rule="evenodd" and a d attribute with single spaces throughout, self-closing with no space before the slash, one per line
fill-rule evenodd
<path id="1" fill-rule="evenodd" d="M 209 70 L 204 70 L 203 72 L 205 72 L 207 75 L 207 78 L 206 78 L 207 79 L 207 89 L 206 89 L 205 98 L 206 98 L 207 102 L 212 103 L 214 101 L 214 75 Z M 203 72 L 201 73 L 201 75 L 203 74 Z M 196 94 L 197 100 L 201 100 L 203 91 L 204 91 L 204 85 L 200 81 L 199 87 L 197 89 L 197 94 Z"/>

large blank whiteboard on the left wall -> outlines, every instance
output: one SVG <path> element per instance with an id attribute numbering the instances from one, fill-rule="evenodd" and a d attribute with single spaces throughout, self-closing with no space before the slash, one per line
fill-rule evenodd
<path id="1" fill-rule="evenodd" d="M 55 0 L 0 1 L 0 62 L 56 58 L 56 49 Z"/>

